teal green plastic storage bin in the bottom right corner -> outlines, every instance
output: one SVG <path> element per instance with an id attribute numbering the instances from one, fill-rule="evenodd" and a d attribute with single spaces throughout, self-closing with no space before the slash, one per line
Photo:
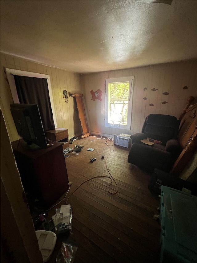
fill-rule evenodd
<path id="1" fill-rule="evenodd" d="M 161 263 L 197 263 L 197 197 L 162 186 Z"/>

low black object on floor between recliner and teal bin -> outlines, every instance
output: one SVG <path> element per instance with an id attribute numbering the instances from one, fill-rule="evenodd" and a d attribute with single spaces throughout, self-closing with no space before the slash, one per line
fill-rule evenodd
<path id="1" fill-rule="evenodd" d="M 177 178 L 171 174 L 155 169 L 148 185 L 148 189 L 158 195 L 161 194 L 161 186 L 168 186 L 182 191 L 183 188 L 188 189 L 191 195 L 197 196 L 197 185 Z M 184 190 L 184 189 L 183 189 Z"/>

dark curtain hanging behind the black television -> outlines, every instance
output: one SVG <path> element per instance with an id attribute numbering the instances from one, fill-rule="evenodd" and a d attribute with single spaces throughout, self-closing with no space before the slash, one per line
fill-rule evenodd
<path id="1" fill-rule="evenodd" d="M 47 79 L 14 75 L 20 103 L 37 104 L 44 131 L 55 129 Z"/>

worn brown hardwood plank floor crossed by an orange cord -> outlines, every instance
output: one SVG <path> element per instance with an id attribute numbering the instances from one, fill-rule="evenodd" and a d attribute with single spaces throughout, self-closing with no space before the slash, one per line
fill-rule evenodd
<path id="1" fill-rule="evenodd" d="M 129 149 L 114 145 L 110 153 L 106 140 L 99 138 L 90 135 L 74 141 L 70 148 L 77 144 L 83 150 L 65 158 L 72 182 L 69 194 L 87 179 L 110 176 L 107 168 L 118 184 L 118 192 L 112 195 L 107 191 L 110 179 L 92 179 L 68 199 L 73 215 L 70 238 L 78 244 L 74 262 L 159 262 L 160 225 L 153 219 L 159 198 L 148 190 L 150 175 L 127 162 Z M 87 151 L 89 147 L 95 150 Z M 92 157 L 97 160 L 90 162 Z M 114 182 L 111 189 L 116 190 Z M 62 204 L 65 200 L 49 216 Z M 55 262 L 64 238 L 58 237 L 49 262 Z"/>

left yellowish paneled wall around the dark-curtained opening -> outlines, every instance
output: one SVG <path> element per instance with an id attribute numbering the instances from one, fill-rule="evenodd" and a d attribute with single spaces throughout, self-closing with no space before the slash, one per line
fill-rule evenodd
<path id="1" fill-rule="evenodd" d="M 10 113 L 10 103 L 13 103 L 13 101 L 10 87 L 6 80 L 6 74 L 4 72 L 5 68 L 49 75 L 58 127 L 68 129 L 69 137 L 82 133 L 75 101 L 70 97 L 69 102 L 66 103 L 65 99 L 63 99 L 62 93 L 64 88 L 70 93 L 83 93 L 80 74 L 44 66 L 1 53 L 1 109 L 6 121 L 11 142 L 18 140 L 19 136 Z"/>

